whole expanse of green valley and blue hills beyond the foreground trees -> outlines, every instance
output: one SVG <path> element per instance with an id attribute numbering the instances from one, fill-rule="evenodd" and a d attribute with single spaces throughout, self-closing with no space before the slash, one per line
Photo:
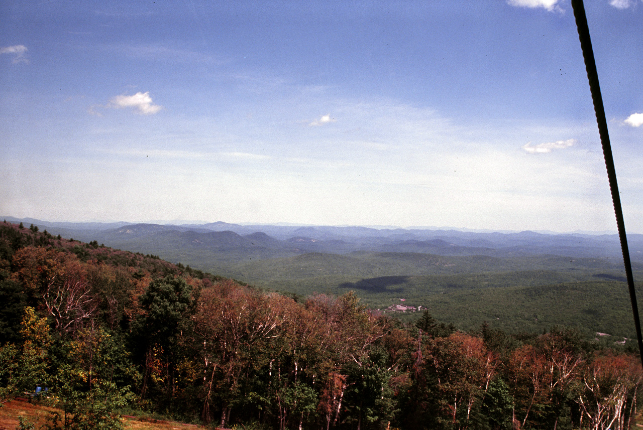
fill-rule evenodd
<path id="1" fill-rule="evenodd" d="M 615 234 L 6 219 L 296 297 L 355 291 L 365 305 L 385 311 L 404 299 L 399 309 L 410 311 L 401 318 L 424 308 L 469 329 L 490 321 L 512 332 L 561 324 L 587 336 L 608 328 L 633 335 Z M 643 236 L 628 240 L 638 280 Z"/>

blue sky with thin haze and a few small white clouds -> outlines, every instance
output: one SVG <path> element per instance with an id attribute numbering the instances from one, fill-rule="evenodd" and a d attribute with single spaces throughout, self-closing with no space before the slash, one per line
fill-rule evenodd
<path id="1" fill-rule="evenodd" d="M 643 2 L 586 1 L 643 233 Z M 556 0 L 3 1 L 0 214 L 615 230 Z"/>

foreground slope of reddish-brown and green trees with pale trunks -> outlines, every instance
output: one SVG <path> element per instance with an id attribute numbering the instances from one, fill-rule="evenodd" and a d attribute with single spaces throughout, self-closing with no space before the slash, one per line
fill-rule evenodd
<path id="1" fill-rule="evenodd" d="M 626 429 L 643 400 L 638 354 L 565 327 L 403 323 L 33 225 L 0 223 L 0 303 L 1 402 L 46 387 L 48 430 Z"/>

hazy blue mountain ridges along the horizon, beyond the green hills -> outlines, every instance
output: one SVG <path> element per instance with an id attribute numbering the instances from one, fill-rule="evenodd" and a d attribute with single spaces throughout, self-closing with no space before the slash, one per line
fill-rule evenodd
<path id="1" fill-rule="evenodd" d="M 217 221 L 206 224 L 69 223 L 6 217 L 33 223 L 52 234 L 96 240 L 108 246 L 177 257 L 175 254 L 208 251 L 216 260 L 269 259 L 309 252 L 415 252 L 435 255 L 565 255 L 619 258 L 616 234 L 543 234 L 522 232 L 464 232 L 360 226 L 240 225 Z M 628 236 L 633 261 L 643 261 L 643 235 Z M 217 255 L 226 253 L 226 255 Z"/>

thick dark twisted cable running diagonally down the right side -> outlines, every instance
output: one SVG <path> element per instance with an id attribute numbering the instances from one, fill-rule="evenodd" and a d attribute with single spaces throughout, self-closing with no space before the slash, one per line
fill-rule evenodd
<path id="1" fill-rule="evenodd" d="M 587 17 L 585 15 L 585 6 L 583 4 L 583 0 L 572 0 L 572 8 L 574 9 L 574 17 L 576 19 L 578 37 L 581 40 L 581 49 L 583 50 L 583 58 L 585 60 L 587 78 L 590 82 L 590 91 L 592 92 L 592 101 L 594 103 L 596 122 L 598 123 L 599 135 L 601 136 L 603 157 L 605 159 L 605 166 L 607 168 L 607 177 L 610 182 L 611 200 L 614 204 L 616 224 L 619 229 L 620 248 L 623 253 L 625 273 L 628 279 L 629 300 L 632 304 L 634 325 L 637 329 L 638 353 L 640 355 L 641 364 L 643 365 L 643 336 L 641 336 L 641 324 L 640 318 L 638 316 L 637 293 L 634 288 L 632 264 L 629 259 L 628 238 L 625 233 L 623 211 L 620 206 L 619 185 L 616 182 L 616 169 L 614 168 L 614 159 L 611 155 L 610 135 L 607 130 L 607 120 L 605 119 L 605 108 L 603 107 L 602 102 L 601 86 L 599 85 L 599 74 L 596 70 L 596 62 L 594 60 L 594 53 L 592 50 L 592 40 L 590 39 L 590 29 L 587 25 Z"/>

